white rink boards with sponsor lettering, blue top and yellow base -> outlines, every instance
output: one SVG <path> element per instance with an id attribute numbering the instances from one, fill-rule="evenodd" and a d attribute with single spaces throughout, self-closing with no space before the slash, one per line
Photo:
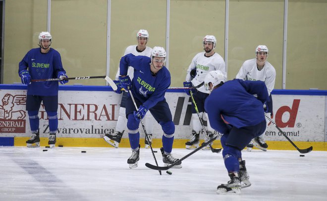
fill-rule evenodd
<path id="1" fill-rule="evenodd" d="M 314 150 L 327 151 L 326 97 L 327 91 L 324 90 L 273 90 L 272 120 L 298 147 L 313 146 Z M 190 97 L 182 89 L 169 89 L 165 98 L 175 124 L 174 147 L 183 148 L 192 130 Z M 26 86 L 0 85 L 0 99 L 0 146 L 25 146 L 30 136 L 25 111 Z M 120 100 L 121 95 L 114 93 L 109 86 L 59 86 L 56 145 L 109 146 L 101 138 L 114 132 Z M 43 105 L 39 118 L 41 146 L 46 146 L 49 125 Z M 142 127 L 139 130 L 141 138 L 144 138 Z M 155 122 L 153 147 L 162 145 L 162 134 L 161 126 Z M 269 125 L 265 135 L 270 149 L 294 150 L 275 126 Z M 143 139 L 140 144 L 144 144 Z M 214 145 L 220 147 L 219 140 Z M 119 146 L 129 147 L 127 134 L 123 135 Z"/>

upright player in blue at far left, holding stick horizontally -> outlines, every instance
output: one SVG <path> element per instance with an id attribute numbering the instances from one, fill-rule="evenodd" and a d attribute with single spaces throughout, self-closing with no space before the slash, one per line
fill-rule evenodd
<path id="1" fill-rule="evenodd" d="M 27 52 L 19 62 L 18 75 L 23 84 L 27 84 L 26 110 L 29 116 L 32 136 L 26 141 L 27 147 L 40 146 L 39 133 L 39 110 L 41 102 L 49 119 L 50 137 L 48 144 L 55 146 L 56 131 L 58 128 L 58 82 L 40 81 L 31 82 L 39 79 L 61 79 L 59 82 L 65 84 L 68 80 L 66 71 L 62 67 L 59 52 L 50 48 L 52 36 L 49 32 L 41 32 L 39 35 L 39 48 L 33 48 Z"/>

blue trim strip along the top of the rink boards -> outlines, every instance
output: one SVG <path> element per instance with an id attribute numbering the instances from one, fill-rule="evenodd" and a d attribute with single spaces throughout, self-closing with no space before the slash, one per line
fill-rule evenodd
<path id="1" fill-rule="evenodd" d="M 0 84 L 0 89 L 26 90 L 23 84 Z M 88 86 L 88 85 L 59 85 L 59 90 L 63 91 L 112 91 L 111 86 Z M 184 92 L 184 89 L 168 89 L 167 92 Z M 273 89 L 273 95 L 311 95 L 327 96 L 327 90 L 292 90 L 292 89 Z"/>

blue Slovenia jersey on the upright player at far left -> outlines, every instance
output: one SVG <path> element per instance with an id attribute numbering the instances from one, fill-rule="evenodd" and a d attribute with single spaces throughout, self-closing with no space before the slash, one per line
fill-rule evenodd
<path id="1" fill-rule="evenodd" d="M 41 47 L 31 49 L 19 62 L 19 72 L 28 70 L 32 80 L 57 78 L 59 72 L 65 72 L 58 51 L 50 48 L 48 53 L 41 53 Z M 27 85 L 27 95 L 56 96 L 58 81 L 31 82 Z"/>

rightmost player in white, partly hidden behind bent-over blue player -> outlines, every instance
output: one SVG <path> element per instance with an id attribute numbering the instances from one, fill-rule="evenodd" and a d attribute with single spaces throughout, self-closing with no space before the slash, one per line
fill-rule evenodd
<path id="1" fill-rule="evenodd" d="M 261 80 L 264 81 L 268 93 L 270 101 L 267 102 L 268 106 L 268 114 L 272 117 L 272 89 L 275 85 L 275 78 L 276 78 L 276 71 L 273 68 L 272 64 L 270 64 L 267 61 L 268 58 L 268 47 L 266 45 L 258 45 L 255 51 L 256 58 L 246 60 L 242 67 L 240 68 L 238 74 L 236 75 L 236 79 L 241 80 Z M 264 106 L 266 107 L 266 105 Z M 269 121 L 267 121 L 268 126 Z M 251 151 L 253 145 L 257 148 L 267 151 L 268 145 L 265 142 L 264 136 L 265 136 L 266 130 L 258 137 L 254 138 L 250 144 L 247 145 L 247 151 Z"/>

